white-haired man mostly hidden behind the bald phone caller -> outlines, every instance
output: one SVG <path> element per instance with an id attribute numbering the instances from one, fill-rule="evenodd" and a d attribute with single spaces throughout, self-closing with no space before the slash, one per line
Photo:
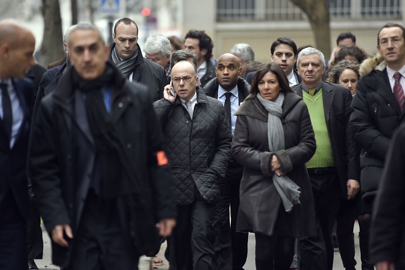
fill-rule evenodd
<path id="1" fill-rule="evenodd" d="M 170 81 L 170 53 L 171 53 L 170 41 L 167 37 L 155 34 L 149 37 L 143 50 L 145 51 L 146 59 L 149 59 L 156 64 L 161 65 L 166 72 L 168 81 Z"/>

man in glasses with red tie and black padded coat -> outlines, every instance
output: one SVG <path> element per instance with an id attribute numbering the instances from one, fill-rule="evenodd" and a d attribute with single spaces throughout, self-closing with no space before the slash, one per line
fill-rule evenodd
<path id="1" fill-rule="evenodd" d="M 405 28 L 400 24 L 387 23 L 378 31 L 377 37 L 377 49 L 387 67 L 382 71 L 371 71 L 358 82 L 350 118 L 355 128 L 355 139 L 362 148 L 360 181 L 366 224 L 370 224 L 392 135 L 399 125 L 405 123 Z M 362 234 L 366 240 L 369 239 L 368 231 Z M 377 247 L 370 245 L 373 248 L 371 254 L 377 255 L 376 251 L 387 245 L 390 241 L 378 242 Z M 391 257 L 380 255 L 370 256 L 370 259 L 388 267 Z"/>

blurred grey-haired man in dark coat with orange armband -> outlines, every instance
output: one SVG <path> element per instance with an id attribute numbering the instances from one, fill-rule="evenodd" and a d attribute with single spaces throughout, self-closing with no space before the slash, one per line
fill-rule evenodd
<path id="1" fill-rule="evenodd" d="M 73 67 L 44 97 L 30 165 L 63 269 L 137 269 L 175 223 L 172 175 L 147 90 L 110 63 L 93 25 L 69 38 Z M 156 224 L 157 223 L 157 224 Z"/>

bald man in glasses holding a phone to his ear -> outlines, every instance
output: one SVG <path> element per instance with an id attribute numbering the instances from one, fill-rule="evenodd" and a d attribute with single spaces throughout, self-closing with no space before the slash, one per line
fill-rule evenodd
<path id="1" fill-rule="evenodd" d="M 222 103 L 208 97 L 198 81 L 197 67 L 180 61 L 172 68 L 174 95 L 165 89 L 164 98 L 153 103 L 175 176 L 178 217 L 169 238 L 173 270 L 217 269 L 213 220 L 230 158 L 231 130 Z"/>

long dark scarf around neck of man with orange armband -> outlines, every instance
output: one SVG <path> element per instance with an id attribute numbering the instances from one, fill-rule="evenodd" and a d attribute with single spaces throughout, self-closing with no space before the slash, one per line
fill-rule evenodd
<path id="1" fill-rule="evenodd" d="M 119 96 L 125 79 L 112 64 L 107 63 L 104 73 L 95 80 L 83 80 L 73 68 L 72 82 L 75 89 L 86 94 L 85 106 L 89 129 L 96 146 L 96 170 L 99 175 L 98 188 L 101 198 L 110 199 L 139 194 L 140 188 L 129 164 L 124 144 L 112 123 L 112 111 L 107 112 L 101 89 L 112 89 L 111 100 Z M 111 110 L 112 110 L 111 105 Z"/>

